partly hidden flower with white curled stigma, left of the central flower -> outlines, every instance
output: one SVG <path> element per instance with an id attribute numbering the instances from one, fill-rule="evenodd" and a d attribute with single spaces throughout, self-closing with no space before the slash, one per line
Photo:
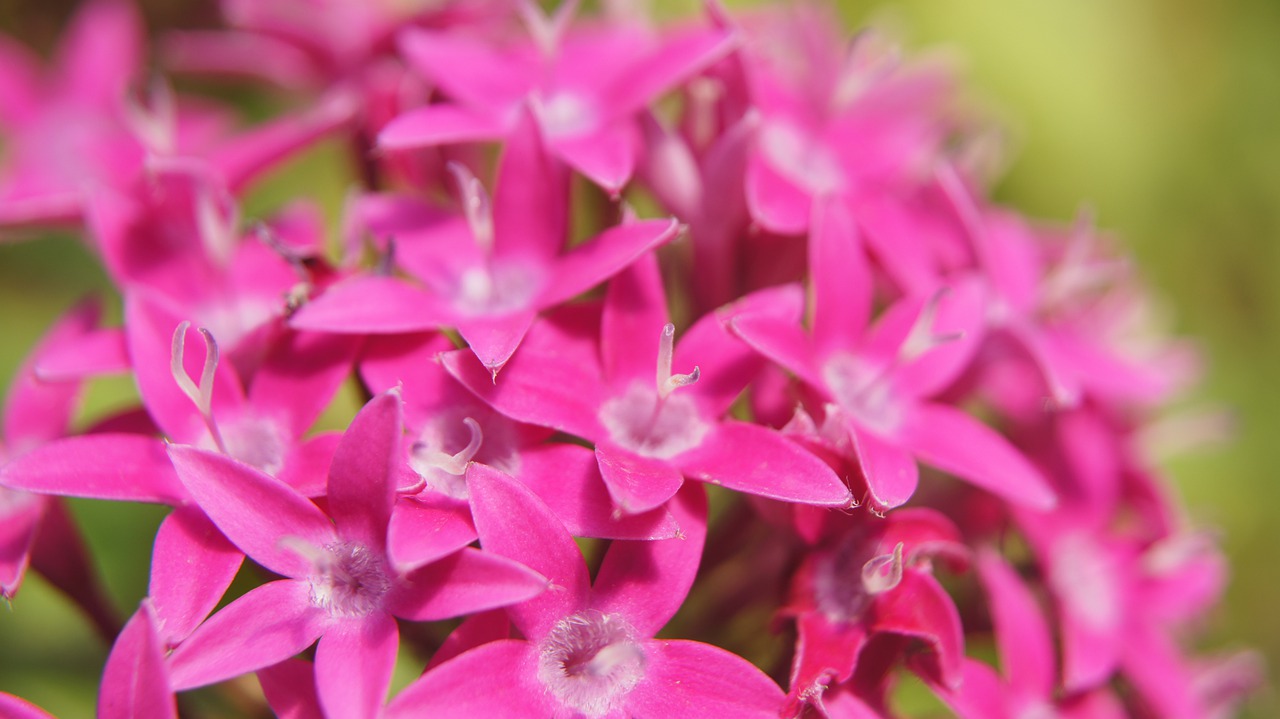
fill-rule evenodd
<path id="1" fill-rule="evenodd" d="M 360 372 L 374 391 L 399 388 L 404 398 L 408 473 L 397 490 L 392 532 L 402 514 L 430 507 L 456 512 L 470 528 L 466 471 L 480 462 L 511 475 L 545 502 L 573 536 L 667 539 L 678 532 L 666 509 L 618 517 L 595 455 L 576 444 L 549 443 L 549 429 L 512 421 L 476 398 L 436 362 L 453 343 L 443 335 L 371 338 Z M 442 532 L 445 531 L 442 526 Z M 465 531 L 452 525 L 449 531 Z"/>

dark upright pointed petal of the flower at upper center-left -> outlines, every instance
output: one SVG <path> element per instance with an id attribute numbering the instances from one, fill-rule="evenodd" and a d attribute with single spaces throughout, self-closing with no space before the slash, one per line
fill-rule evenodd
<path id="1" fill-rule="evenodd" d="M 493 196 L 494 255 L 547 262 L 568 238 L 568 174 L 524 110 L 507 137 Z"/>

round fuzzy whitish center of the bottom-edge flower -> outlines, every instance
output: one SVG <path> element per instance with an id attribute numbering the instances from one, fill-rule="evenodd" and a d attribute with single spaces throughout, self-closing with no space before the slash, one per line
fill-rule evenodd
<path id="1" fill-rule="evenodd" d="M 644 647 L 626 619 L 594 609 L 557 622 L 539 647 L 538 679 L 591 719 L 617 711 L 644 668 Z"/>

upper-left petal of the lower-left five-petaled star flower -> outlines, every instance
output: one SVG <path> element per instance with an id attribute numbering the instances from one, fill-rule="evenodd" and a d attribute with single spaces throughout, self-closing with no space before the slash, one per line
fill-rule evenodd
<path id="1" fill-rule="evenodd" d="M 323 548 L 338 540 L 324 512 L 278 480 L 214 452 L 169 446 L 178 476 L 201 509 L 236 546 L 285 577 L 305 577 L 311 562 L 285 537 Z"/>

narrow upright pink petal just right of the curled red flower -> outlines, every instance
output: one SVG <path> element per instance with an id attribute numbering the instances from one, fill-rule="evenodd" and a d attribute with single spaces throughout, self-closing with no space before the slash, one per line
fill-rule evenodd
<path id="1" fill-rule="evenodd" d="M 995 551 L 978 557 L 978 572 L 996 627 L 1000 665 L 1010 687 L 1019 695 L 1051 696 L 1057 674 L 1053 637 L 1036 597 Z"/>

